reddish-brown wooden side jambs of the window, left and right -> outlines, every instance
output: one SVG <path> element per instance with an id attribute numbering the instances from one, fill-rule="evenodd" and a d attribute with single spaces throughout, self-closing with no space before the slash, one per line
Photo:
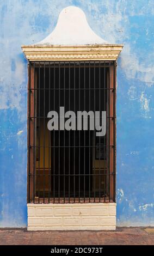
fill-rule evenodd
<path id="1" fill-rule="evenodd" d="M 30 66 L 29 66 L 30 65 Z M 34 93 L 36 86 L 36 77 L 34 75 L 34 66 L 28 64 L 28 106 L 30 102 L 30 108 L 28 108 L 28 179 L 27 179 L 27 202 L 35 202 L 35 162 L 34 162 L 34 145 L 36 140 L 36 127 L 34 127 L 34 117 L 36 94 Z M 110 202 L 115 202 L 115 191 L 116 191 L 116 62 L 114 65 L 109 67 L 108 76 L 108 88 L 110 88 L 108 93 L 109 109 L 108 113 L 110 117 L 109 124 L 107 124 L 107 129 L 109 131 L 109 194 Z M 34 95 L 35 94 L 35 95 Z M 30 110 L 29 110 L 30 109 Z M 30 127 L 30 129 L 29 129 Z M 108 132 L 107 131 L 107 132 Z M 114 146 L 113 146 L 114 145 Z"/>

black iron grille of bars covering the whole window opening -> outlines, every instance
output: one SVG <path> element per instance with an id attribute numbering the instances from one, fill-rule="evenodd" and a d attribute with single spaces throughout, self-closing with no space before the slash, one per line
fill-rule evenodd
<path id="1" fill-rule="evenodd" d="M 115 202 L 116 63 L 29 62 L 28 203 Z M 47 129 L 49 111 L 106 111 L 106 135 Z"/>

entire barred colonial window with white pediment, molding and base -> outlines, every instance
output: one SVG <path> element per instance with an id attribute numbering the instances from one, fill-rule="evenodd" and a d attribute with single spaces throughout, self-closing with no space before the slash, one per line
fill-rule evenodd
<path id="1" fill-rule="evenodd" d="M 116 59 L 76 7 L 28 60 L 28 230 L 115 229 Z"/>

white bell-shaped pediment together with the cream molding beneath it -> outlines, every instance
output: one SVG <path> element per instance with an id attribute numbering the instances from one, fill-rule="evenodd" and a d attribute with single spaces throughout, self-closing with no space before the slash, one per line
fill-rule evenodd
<path id="1" fill-rule="evenodd" d="M 33 45 L 22 45 L 22 50 L 30 61 L 116 60 L 122 47 L 96 35 L 84 12 L 71 6 L 61 11 L 50 35 Z"/>

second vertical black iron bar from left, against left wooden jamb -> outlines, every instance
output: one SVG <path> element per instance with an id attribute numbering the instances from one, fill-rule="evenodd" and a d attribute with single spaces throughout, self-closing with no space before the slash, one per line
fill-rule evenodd
<path id="1" fill-rule="evenodd" d="M 34 117 L 33 117 L 33 203 L 35 203 L 35 133 L 36 133 L 36 129 L 35 129 L 35 62 L 34 62 Z"/>

